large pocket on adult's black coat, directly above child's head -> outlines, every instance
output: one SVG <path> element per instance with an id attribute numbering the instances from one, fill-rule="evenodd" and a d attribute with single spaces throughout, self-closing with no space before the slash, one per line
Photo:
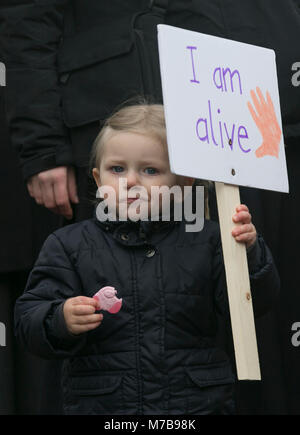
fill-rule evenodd
<path id="1" fill-rule="evenodd" d="M 67 127 L 103 121 L 130 98 L 160 91 L 156 24 L 147 12 L 65 38 L 58 52 Z"/>

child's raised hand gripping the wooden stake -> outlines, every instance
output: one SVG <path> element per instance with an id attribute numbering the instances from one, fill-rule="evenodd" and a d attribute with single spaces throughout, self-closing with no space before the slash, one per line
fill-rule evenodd
<path id="1" fill-rule="evenodd" d="M 251 222 L 251 214 L 244 204 L 239 205 L 236 211 L 232 220 L 239 225 L 234 227 L 231 234 L 237 242 L 246 243 L 246 247 L 250 248 L 256 241 L 256 229 Z"/>

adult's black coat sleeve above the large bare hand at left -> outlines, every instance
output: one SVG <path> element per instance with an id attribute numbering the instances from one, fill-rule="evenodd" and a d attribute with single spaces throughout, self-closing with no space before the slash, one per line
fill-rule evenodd
<path id="1" fill-rule="evenodd" d="M 57 72 L 66 3 L 23 0 L 0 6 L 6 117 L 25 180 L 41 171 L 72 164 Z"/>

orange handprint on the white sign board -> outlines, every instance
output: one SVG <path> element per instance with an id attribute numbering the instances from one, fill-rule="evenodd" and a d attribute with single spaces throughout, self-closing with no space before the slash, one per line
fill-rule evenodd
<path id="1" fill-rule="evenodd" d="M 278 158 L 282 131 L 276 118 L 273 101 L 268 91 L 267 101 L 259 87 L 256 88 L 256 92 L 259 100 L 254 91 L 251 91 L 250 94 L 257 113 L 252 104 L 249 101 L 247 103 L 251 116 L 263 138 L 263 143 L 255 151 L 255 154 L 256 157 L 275 156 Z"/>

